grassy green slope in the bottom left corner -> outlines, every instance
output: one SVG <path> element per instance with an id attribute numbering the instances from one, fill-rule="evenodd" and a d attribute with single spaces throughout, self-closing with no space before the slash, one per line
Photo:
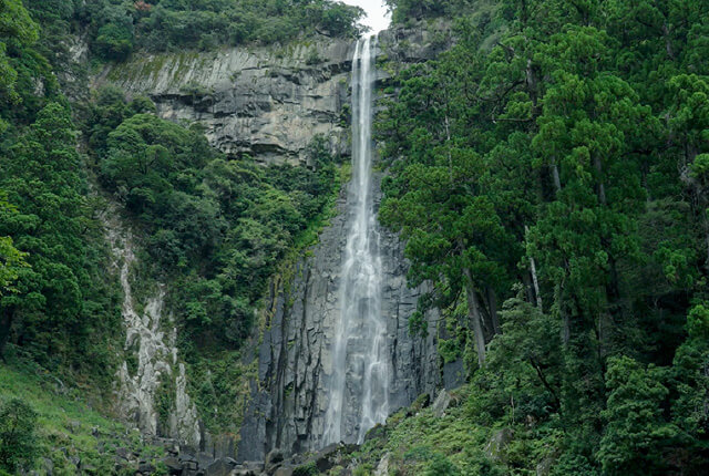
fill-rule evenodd
<path id="1" fill-rule="evenodd" d="M 20 468 L 54 475 L 117 474 L 115 449 L 147 462 L 162 455 L 136 431 L 106 418 L 79 399 L 80 391 L 34 366 L 0 366 L 0 474 Z M 7 472 L 7 473 L 4 473 Z M 126 475 L 134 474 L 126 469 Z"/>

